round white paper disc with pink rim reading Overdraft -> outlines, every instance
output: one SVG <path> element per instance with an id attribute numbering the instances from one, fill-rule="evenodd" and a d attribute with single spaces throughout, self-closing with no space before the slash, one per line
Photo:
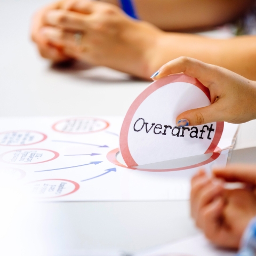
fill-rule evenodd
<path id="1" fill-rule="evenodd" d="M 177 74 L 150 84 L 124 118 L 120 150 L 129 167 L 213 153 L 224 123 L 177 127 L 183 111 L 209 106 L 210 92 L 196 78 Z"/>

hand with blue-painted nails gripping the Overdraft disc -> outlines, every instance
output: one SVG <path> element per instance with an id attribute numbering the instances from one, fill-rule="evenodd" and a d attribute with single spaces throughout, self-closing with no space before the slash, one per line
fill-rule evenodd
<path id="1" fill-rule="evenodd" d="M 244 123 L 256 118 L 256 83 L 230 70 L 180 57 L 162 66 L 151 78 L 184 73 L 210 90 L 211 105 L 179 113 L 177 126 L 225 121 Z"/>

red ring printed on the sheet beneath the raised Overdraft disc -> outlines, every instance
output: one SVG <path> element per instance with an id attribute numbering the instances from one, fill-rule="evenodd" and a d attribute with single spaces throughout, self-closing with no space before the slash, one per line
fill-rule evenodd
<path id="1" fill-rule="evenodd" d="M 209 164 L 209 163 L 213 162 L 221 154 L 220 152 L 213 152 L 212 156 L 209 159 L 206 159 L 205 161 L 203 161 L 201 163 L 193 164 L 193 165 L 189 165 L 189 166 L 185 166 L 185 167 L 172 168 L 172 169 L 141 169 L 141 168 L 135 168 L 135 167 L 128 167 L 128 166 L 125 166 L 125 165 L 121 164 L 120 162 L 118 162 L 116 159 L 116 154 L 118 152 L 119 152 L 118 148 L 115 148 L 108 152 L 106 157 L 110 163 L 124 167 L 126 169 L 145 171 L 145 172 L 172 172 L 172 171 L 182 171 L 182 170 L 192 169 L 192 168 L 200 167 L 205 164 Z"/>

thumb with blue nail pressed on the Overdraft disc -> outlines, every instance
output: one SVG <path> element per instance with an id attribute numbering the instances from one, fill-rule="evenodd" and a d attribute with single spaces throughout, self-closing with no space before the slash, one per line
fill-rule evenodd
<path id="1" fill-rule="evenodd" d="M 217 104 L 213 103 L 210 106 L 203 108 L 195 108 L 181 113 L 176 118 L 177 126 L 201 125 L 221 120 L 221 113 L 217 109 Z"/>

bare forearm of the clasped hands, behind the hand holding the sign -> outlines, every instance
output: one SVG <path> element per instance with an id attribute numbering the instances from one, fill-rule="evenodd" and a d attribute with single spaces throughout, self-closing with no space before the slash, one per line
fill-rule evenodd
<path id="1" fill-rule="evenodd" d="M 212 39 L 191 34 L 163 33 L 147 55 L 147 76 L 180 56 L 221 66 L 256 80 L 256 36 Z"/>

